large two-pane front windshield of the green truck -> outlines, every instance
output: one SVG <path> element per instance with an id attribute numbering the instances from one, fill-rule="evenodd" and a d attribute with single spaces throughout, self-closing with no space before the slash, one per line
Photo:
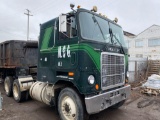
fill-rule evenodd
<path id="1" fill-rule="evenodd" d="M 79 13 L 79 22 L 82 38 L 126 47 L 121 27 L 88 12 Z"/>

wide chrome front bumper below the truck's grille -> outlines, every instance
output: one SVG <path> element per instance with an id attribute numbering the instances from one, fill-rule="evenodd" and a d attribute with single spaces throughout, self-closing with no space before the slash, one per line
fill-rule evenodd
<path id="1" fill-rule="evenodd" d="M 88 114 L 98 113 L 112 105 L 115 105 L 129 97 L 131 86 L 127 85 L 106 93 L 85 98 L 86 110 Z"/>

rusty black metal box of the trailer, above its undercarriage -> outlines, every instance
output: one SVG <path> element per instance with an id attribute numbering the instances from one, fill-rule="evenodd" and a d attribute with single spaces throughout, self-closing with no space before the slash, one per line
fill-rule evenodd
<path id="1" fill-rule="evenodd" d="M 0 43 L 0 68 L 37 66 L 38 41 L 9 40 Z"/>

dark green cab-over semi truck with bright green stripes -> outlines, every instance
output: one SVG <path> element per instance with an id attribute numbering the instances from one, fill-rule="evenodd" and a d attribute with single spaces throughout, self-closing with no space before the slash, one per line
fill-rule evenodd
<path id="1" fill-rule="evenodd" d="M 13 83 L 17 102 L 29 91 L 33 99 L 56 106 L 62 120 L 119 108 L 131 91 L 128 50 L 117 20 L 97 14 L 96 7 L 73 7 L 40 25 L 36 82 L 22 76 Z"/>

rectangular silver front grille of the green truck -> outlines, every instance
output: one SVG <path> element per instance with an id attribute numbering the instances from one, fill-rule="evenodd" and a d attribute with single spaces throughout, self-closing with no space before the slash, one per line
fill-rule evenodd
<path id="1" fill-rule="evenodd" d="M 113 88 L 124 84 L 124 55 L 102 52 L 101 54 L 101 86 L 102 89 Z"/>

